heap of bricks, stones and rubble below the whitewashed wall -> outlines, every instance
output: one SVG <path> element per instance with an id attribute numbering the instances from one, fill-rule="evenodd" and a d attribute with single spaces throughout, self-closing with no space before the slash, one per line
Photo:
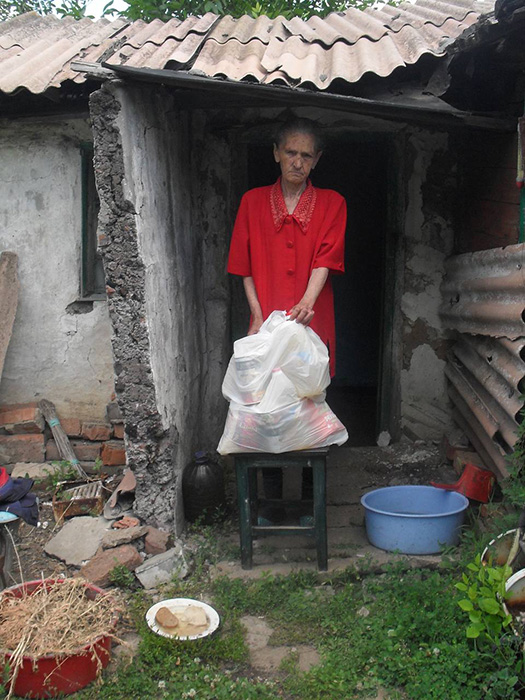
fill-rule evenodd
<path id="1" fill-rule="evenodd" d="M 46 420 L 42 404 L 0 407 L 0 464 L 13 479 L 35 480 L 38 489 L 49 481 L 54 484 L 51 491 L 39 493 L 40 520 L 49 509 L 55 520 L 43 545 L 45 554 L 70 570 L 76 568 L 80 576 L 102 588 L 111 585 L 116 566 L 133 571 L 147 589 L 169 581 L 175 573 L 186 576 L 181 546 L 174 545 L 167 532 L 141 524 L 135 517 L 136 483 L 131 470 L 125 469 L 124 425 L 117 404 L 108 404 L 106 421 L 99 423 L 72 418 L 50 421 L 47 415 Z M 67 459 L 54 439 L 54 423 L 60 424 L 80 477 L 88 475 L 83 483 L 57 484 Z M 52 502 L 47 503 L 48 498 Z M 47 522 L 41 525 L 47 527 Z"/>

